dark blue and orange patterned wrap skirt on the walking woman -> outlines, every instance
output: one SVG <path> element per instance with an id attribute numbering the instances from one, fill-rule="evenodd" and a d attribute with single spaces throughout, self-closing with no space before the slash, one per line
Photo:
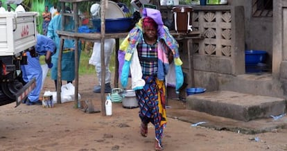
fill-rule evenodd
<path id="1" fill-rule="evenodd" d="M 146 85 L 136 91 L 139 102 L 139 118 L 145 124 L 155 126 L 155 139 L 162 145 L 162 134 L 166 126 L 166 89 L 164 81 L 156 76 L 143 75 Z"/>

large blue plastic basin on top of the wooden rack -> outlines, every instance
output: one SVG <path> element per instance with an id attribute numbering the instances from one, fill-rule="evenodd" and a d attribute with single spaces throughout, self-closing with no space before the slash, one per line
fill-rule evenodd
<path id="1" fill-rule="evenodd" d="M 101 31 L 101 19 L 92 19 L 97 32 Z M 105 19 L 105 33 L 124 33 L 132 29 L 132 17 Z"/>

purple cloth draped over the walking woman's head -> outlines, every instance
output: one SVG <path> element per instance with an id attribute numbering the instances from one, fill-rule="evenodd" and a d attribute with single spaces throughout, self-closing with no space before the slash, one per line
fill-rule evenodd
<path id="1" fill-rule="evenodd" d="M 153 8 L 143 8 L 143 18 L 150 17 L 157 23 L 157 33 L 162 35 L 164 33 L 164 22 L 162 21 L 162 14 L 159 10 Z"/>

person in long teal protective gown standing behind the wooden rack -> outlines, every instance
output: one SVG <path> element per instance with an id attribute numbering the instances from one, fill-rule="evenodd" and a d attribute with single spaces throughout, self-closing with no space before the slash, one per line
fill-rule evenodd
<path id="1" fill-rule="evenodd" d="M 71 12 L 71 8 L 68 6 L 65 7 L 65 12 Z M 65 17 L 65 26 L 64 30 L 73 30 L 73 18 Z M 57 34 L 57 30 L 62 30 L 62 16 L 56 15 L 51 19 L 47 37 L 50 37 L 54 40 L 57 51 L 52 57 L 52 63 L 55 64 L 51 69 L 51 79 L 55 81 L 55 89 L 57 90 L 57 78 L 58 78 L 58 53 L 60 51 L 60 37 Z M 79 43 L 80 44 L 80 43 Z M 75 78 L 75 44 L 72 39 L 64 39 L 64 47 L 62 50 L 62 80 L 66 80 L 68 83 L 73 82 Z M 78 51 L 80 55 L 80 46 L 78 46 Z M 80 57 L 79 57 L 80 59 Z"/>

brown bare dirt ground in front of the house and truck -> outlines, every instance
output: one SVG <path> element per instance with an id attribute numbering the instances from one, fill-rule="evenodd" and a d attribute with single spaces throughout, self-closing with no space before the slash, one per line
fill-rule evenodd
<path id="1" fill-rule="evenodd" d="M 101 109 L 100 94 L 94 94 L 95 75 L 82 75 L 79 93 Z M 50 78 L 44 90 L 54 91 Z M 183 105 L 177 100 L 171 107 Z M 125 109 L 113 103 L 112 116 L 87 114 L 73 108 L 73 102 L 42 106 L 4 105 L 0 107 L 0 150 L 154 150 L 155 134 L 148 126 L 146 138 L 139 134 L 139 108 Z M 168 110 L 167 110 L 168 113 Z M 192 116 L 192 115 L 191 115 Z M 287 150 L 287 131 L 247 135 L 193 127 L 191 123 L 168 118 L 163 145 L 174 150 Z"/>

